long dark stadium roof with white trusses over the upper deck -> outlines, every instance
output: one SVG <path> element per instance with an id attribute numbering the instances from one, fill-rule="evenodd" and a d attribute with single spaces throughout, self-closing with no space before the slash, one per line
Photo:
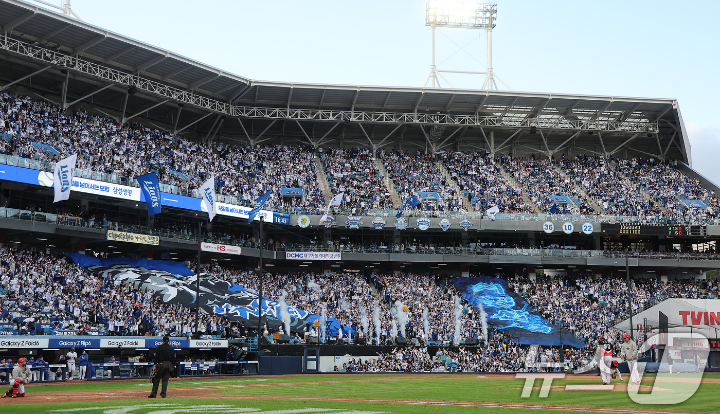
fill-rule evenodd
<path id="1" fill-rule="evenodd" d="M 675 99 L 255 81 L 0 0 L 0 90 L 201 140 L 678 158 Z"/>

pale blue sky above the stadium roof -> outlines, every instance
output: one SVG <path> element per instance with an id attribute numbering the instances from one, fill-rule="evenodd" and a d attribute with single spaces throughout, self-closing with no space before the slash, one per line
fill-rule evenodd
<path id="1" fill-rule="evenodd" d="M 720 1 L 497 4 L 492 66 L 510 87 L 678 99 L 693 168 L 720 184 Z M 256 80 L 423 86 L 430 71 L 425 0 L 72 0 L 72 8 L 106 30 Z M 485 71 L 486 42 L 484 30 L 436 30 L 438 68 Z M 458 88 L 484 80 L 446 77 Z"/>

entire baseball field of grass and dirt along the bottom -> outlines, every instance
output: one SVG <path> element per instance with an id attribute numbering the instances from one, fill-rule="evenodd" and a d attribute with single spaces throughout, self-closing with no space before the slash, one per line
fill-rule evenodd
<path id="1" fill-rule="evenodd" d="M 23 398 L 0 399 L 6 413 L 83 414 L 370 414 L 370 413 L 716 413 L 720 374 L 704 375 L 697 392 L 672 405 L 641 405 L 626 383 L 613 390 L 577 390 L 597 385 L 590 375 L 554 379 L 540 397 L 537 379 L 521 397 L 525 379 L 514 375 L 317 374 L 302 376 L 171 379 L 166 399 L 148 399 L 148 380 L 29 384 Z M 651 387 L 653 387 L 652 390 Z M 570 387 L 566 387 L 569 385 Z M 662 395 L 683 386 L 683 379 L 660 382 L 645 375 L 639 393 Z M 652 391 L 651 391 L 652 390 Z M 17 405 L 17 408 L 9 406 Z"/>

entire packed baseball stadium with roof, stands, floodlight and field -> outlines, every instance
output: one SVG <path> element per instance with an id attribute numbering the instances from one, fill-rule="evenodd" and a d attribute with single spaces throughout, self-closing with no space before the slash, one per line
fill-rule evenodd
<path id="1" fill-rule="evenodd" d="M 720 189 L 678 100 L 514 91 L 497 4 L 418 7 L 397 87 L 0 0 L 0 407 L 718 412 Z M 486 71 L 438 68 L 447 28 Z"/>

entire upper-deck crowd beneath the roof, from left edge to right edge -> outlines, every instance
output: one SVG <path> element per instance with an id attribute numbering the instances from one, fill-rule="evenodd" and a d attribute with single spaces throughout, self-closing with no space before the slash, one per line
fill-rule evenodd
<path id="1" fill-rule="evenodd" d="M 163 184 L 177 186 L 177 191 L 187 194 L 193 194 L 212 175 L 216 177 L 217 194 L 236 197 L 238 203 L 246 205 L 268 190 L 272 191 L 272 207 L 320 211 L 325 205 L 314 151 L 307 146 L 199 143 L 79 109 L 66 113 L 50 102 L 6 91 L 0 93 L 0 152 L 44 161 L 49 166 L 58 158 L 78 153 L 81 170 L 112 174 L 121 183 L 156 171 Z M 371 150 L 323 148 L 319 152 L 331 191 L 345 189 L 356 211 L 397 207 L 392 206 Z M 559 212 L 566 214 L 686 219 L 720 216 L 720 199 L 714 191 L 683 174 L 678 161 L 585 155 L 565 161 L 563 155 L 557 161 L 561 173 L 553 168 L 556 161 L 549 158 L 503 154 L 497 161 L 520 186 L 513 188 L 503 179 L 492 156 L 482 151 L 431 156 L 423 150 L 410 155 L 393 148 L 378 153 L 401 199 L 418 192 L 438 193 L 438 201 L 423 200 L 416 207 L 423 212 L 462 211 L 464 198 L 478 209 L 497 205 L 501 212 L 532 212 L 521 197 L 525 193 L 543 212 L 555 203 Z M 446 179 L 434 156 L 444 160 L 454 180 Z M 303 189 L 304 197 L 282 197 L 282 187 Z M 552 196 L 570 197 L 572 202 L 557 203 Z M 710 208 L 689 208 L 680 199 L 698 199 Z"/>

